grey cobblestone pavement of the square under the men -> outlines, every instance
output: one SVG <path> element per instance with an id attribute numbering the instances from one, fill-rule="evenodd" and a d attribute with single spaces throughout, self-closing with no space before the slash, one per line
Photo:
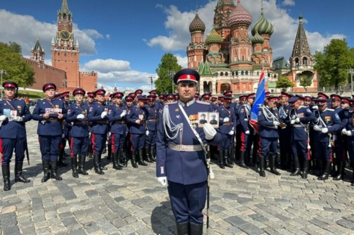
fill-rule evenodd
<path id="1" fill-rule="evenodd" d="M 59 168 L 62 181 L 41 183 L 36 125 L 27 124 L 31 165 L 24 164 L 24 175 L 31 183 L 15 184 L 12 161 L 12 189 L 4 192 L 1 185 L 0 234 L 174 234 L 169 197 L 154 164 L 116 171 L 104 159 L 109 170 L 98 175 L 90 160 L 88 176 L 73 178 L 68 166 Z M 210 234 L 354 234 L 349 182 L 301 179 L 285 171 L 262 178 L 237 166 L 213 170 Z"/>

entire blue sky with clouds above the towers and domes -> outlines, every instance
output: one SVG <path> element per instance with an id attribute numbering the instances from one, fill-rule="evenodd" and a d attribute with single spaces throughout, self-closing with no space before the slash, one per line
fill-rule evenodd
<path id="1" fill-rule="evenodd" d="M 207 35 L 217 0 L 199 0 L 199 16 Z M 236 2 L 236 0 L 235 0 Z M 253 23 L 260 15 L 260 0 L 242 0 Z M 29 56 L 39 37 L 50 64 L 50 41 L 56 32 L 62 0 L 12 0 L 0 2 L 0 41 L 16 41 Z M 270 39 L 274 58 L 289 59 L 302 12 L 312 53 L 332 38 L 346 38 L 354 47 L 354 1 L 268 0 L 265 17 L 275 31 Z M 185 48 L 190 41 L 189 23 L 195 15 L 191 0 L 68 0 L 73 12 L 74 36 L 80 43 L 80 68 L 98 71 L 98 82 L 107 90 L 114 84 L 150 90 L 148 76 L 155 74 L 162 55 L 171 52 L 186 66 Z M 251 25 L 252 27 L 252 25 Z"/>

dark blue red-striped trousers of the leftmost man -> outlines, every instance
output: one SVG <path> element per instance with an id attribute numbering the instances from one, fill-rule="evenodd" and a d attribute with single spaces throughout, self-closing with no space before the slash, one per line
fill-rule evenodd
<path id="1" fill-rule="evenodd" d="M 23 162 L 26 138 L 8 139 L 0 138 L 1 165 L 10 164 L 13 149 L 15 149 L 16 161 Z"/>

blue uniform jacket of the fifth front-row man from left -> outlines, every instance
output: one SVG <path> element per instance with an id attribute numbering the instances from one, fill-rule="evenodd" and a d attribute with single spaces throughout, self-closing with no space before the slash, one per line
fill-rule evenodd
<path id="1" fill-rule="evenodd" d="M 121 117 L 122 113 L 126 113 L 124 106 L 111 105 L 108 108 L 108 120 L 110 122 L 110 132 L 114 134 L 125 134 L 126 133 L 126 115 Z M 115 123 L 119 121 L 119 123 Z"/>

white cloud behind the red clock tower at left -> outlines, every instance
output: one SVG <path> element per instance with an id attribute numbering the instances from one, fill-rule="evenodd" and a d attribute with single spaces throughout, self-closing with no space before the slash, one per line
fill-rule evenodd
<path id="1" fill-rule="evenodd" d="M 15 41 L 22 46 L 23 55 L 29 55 L 31 48 L 39 38 L 46 57 L 50 56 L 52 37 L 56 39 L 57 24 L 36 20 L 33 16 L 18 15 L 6 10 L 0 10 L 0 41 Z M 81 55 L 95 55 L 95 40 L 102 38 L 94 29 L 80 30 L 73 24 L 74 40 L 79 40 Z"/>

